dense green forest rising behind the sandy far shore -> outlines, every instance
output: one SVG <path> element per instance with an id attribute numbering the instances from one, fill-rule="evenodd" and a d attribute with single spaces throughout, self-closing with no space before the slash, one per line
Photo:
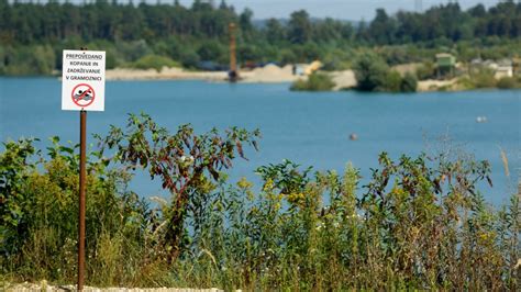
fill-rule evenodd
<path id="1" fill-rule="evenodd" d="M 252 10 L 235 11 L 224 0 L 196 0 L 191 7 L 179 1 L 0 0 L 0 75 L 53 74 L 60 70 L 62 49 L 81 46 L 107 50 L 109 69 L 228 64 L 231 22 L 239 26 L 243 65 L 321 59 L 325 69 L 344 69 L 367 47 L 389 65 L 422 61 L 440 50 L 464 61 L 521 55 L 521 3 L 512 0 L 468 10 L 447 3 L 392 15 L 378 9 L 369 22 L 314 19 L 304 10 L 284 20 L 258 21 Z"/>

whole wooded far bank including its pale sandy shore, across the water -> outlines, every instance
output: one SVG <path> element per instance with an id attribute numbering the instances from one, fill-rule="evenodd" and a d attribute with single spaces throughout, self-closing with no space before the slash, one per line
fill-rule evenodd
<path id="1" fill-rule="evenodd" d="M 225 1 L 185 7 L 178 1 L 75 5 L 0 0 L 0 11 L 3 76 L 58 74 L 62 49 L 87 46 L 107 50 L 109 79 L 224 80 L 230 69 L 229 23 L 236 23 L 244 81 L 300 80 L 296 90 L 406 92 L 521 85 L 521 3 L 513 1 L 468 10 L 448 3 L 393 15 L 379 9 L 367 23 L 312 19 L 304 10 L 287 20 L 256 21 L 252 10 L 237 12 Z M 77 18 L 79 11 L 88 16 Z M 375 63 L 368 68 L 376 74 L 373 85 L 359 79 L 367 55 Z M 321 81 L 314 77 L 303 86 L 309 75 L 299 68 L 314 60 L 322 64 Z M 268 64 L 280 70 L 262 71 Z M 350 79 L 357 67 L 358 82 Z"/>

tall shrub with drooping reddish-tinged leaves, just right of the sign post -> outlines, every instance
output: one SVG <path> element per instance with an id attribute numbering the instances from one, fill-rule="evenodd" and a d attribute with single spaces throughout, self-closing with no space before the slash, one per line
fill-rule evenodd
<path id="1" fill-rule="evenodd" d="M 120 162 L 147 169 L 151 178 L 160 179 L 163 189 L 170 192 L 162 243 L 169 262 L 174 262 L 184 248 L 189 207 L 198 204 L 196 200 L 204 200 L 198 195 L 206 195 L 214 188 L 212 181 L 219 181 L 222 169 L 232 167 L 232 159 L 245 158 L 243 144 L 256 148 L 257 137 L 258 131 L 250 133 L 236 127 L 222 136 L 215 128 L 196 135 L 190 125 L 181 125 L 170 134 L 151 116 L 141 114 L 129 117 L 126 130 L 112 127 L 100 143 L 115 149 L 114 159 Z"/>

